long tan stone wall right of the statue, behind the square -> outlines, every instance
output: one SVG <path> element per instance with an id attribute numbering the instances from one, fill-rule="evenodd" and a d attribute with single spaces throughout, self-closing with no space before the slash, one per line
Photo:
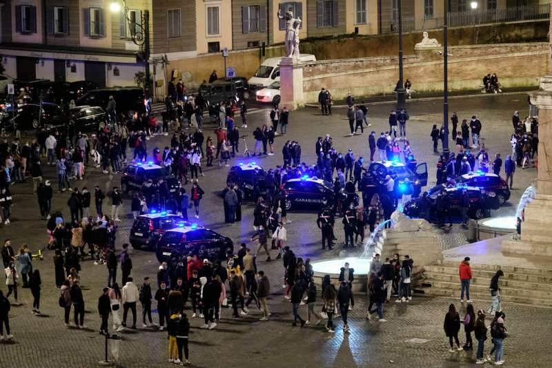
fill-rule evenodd
<path id="1" fill-rule="evenodd" d="M 487 73 L 496 72 L 503 88 L 538 86 L 548 70 L 548 43 L 507 43 L 449 48 L 449 90 L 474 90 Z M 304 66 L 304 101 L 315 102 L 329 88 L 335 99 L 353 95 L 393 93 L 398 78 L 397 57 L 315 61 Z M 404 58 L 404 78 L 416 92 L 443 88 L 443 61 L 437 51 Z"/>

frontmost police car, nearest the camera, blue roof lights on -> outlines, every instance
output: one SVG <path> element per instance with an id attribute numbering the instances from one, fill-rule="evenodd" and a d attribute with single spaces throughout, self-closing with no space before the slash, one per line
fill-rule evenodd
<path id="1" fill-rule="evenodd" d="M 233 253 L 234 243 L 230 238 L 203 226 L 181 222 L 165 231 L 155 247 L 155 255 L 159 262 L 166 262 L 172 256 L 184 256 L 200 251 L 205 251 L 213 260 L 225 260 L 227 253 Z"/>

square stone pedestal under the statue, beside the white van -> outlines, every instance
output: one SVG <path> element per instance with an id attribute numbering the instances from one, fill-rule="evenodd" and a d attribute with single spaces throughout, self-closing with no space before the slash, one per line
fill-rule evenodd
<path id="1" fill-rule="evenodd" d="M 296 110 L 304 106 L 303 65 L 291 57 L 282 57 L 280 61 L 280 104 L 279 108 Z"/>

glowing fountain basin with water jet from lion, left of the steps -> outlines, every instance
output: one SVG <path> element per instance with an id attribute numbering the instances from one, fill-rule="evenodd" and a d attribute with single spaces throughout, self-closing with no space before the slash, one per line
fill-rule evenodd
<path id="1" fill-rule="evenodd" d="M 324 276 L 330 275 L 331 281 L 337 284 L 339 280 L 339 271 L 344 267 L 345 262 L 348 262 L 349 267 L 355 270 L 353 292 L 366 292 L 371 261 L 375 253 L 381 253 L 382 251 L 382 249 L 377 246 L 377 238 L 379 238 L 382 229 L 384 229 L 384 226 L 388 222 L 391 222 L 391 220 L 386 220 L 379 224 L 370 236 L 364 240 L 364 251 L 360 257 L 342 257 L 344 251 L 341 251 L 339 252 L 340 258 L 313 262 L 313 278 L 315 283 L 321 285 Z"/>

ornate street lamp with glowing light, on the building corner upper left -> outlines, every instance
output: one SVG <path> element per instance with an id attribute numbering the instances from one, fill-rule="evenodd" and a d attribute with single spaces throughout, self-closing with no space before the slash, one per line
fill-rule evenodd
<path id="1" fill-rule="evenodd" d="M 141 22 L 137 23 L 136 19 L 130 19 L 128 16 L 128 7 L 125 0 L 114 0 L 109 6 L 112 12 L 124 12 L 124 18 L 126 24 L 121 24 L 121 27 L 130 29 L 129 36 L 139 48 L 139 52 L 136 54 L 137 62 L 144 63 L 144 71 L 146 72 L 146 81 L 144 81 L 144 95 L 146 99 L 149 98 L 150 91 L 150 11 L 144 10 L 141 17 Z"/>

